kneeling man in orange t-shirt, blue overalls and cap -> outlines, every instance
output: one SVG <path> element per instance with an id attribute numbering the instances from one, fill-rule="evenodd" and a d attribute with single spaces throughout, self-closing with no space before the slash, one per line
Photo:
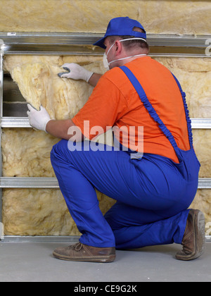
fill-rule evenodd
<path id="1" fill-rule="evenodd" d="M 28 105 L 30 124 L 62 139 L 53 146 L 51 164 L 82 233 L 79 242 L 58 247 L 53 255 L 110 262 L 116 249 L 177 243 L 182 247 L 176 259 L 196 259 L 205 249 L 205 218 L 188 209 L 200 164 L 185 93 L 173 73 L 148 56 L 146 31 L 138 21 L 113 18 L 94 45 L 106 49 L 104 75 L 75 63 L 59 73 L 60 79 L 94 86 L 74 118 L 53 120 L 43 107 Z M 96 144 L 96 135 L 109 128 L 119 145 Z M 96 190 L 116 201 L 105 216 Z"/>

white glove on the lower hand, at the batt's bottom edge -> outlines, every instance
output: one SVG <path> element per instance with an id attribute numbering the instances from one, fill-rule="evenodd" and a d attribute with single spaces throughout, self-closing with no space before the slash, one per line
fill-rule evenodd
<path id="1" fill-rule="evenodd" d="M 30 104 L 27 104 L 29 111 L 27 111 L 27 116 L 29 117 L 30 125 L 37 130 L 44 130 L 46 132 L 46 124 L 51 121 L 49 113 L 40 106 L 40 110 L 37 111 Z"/>

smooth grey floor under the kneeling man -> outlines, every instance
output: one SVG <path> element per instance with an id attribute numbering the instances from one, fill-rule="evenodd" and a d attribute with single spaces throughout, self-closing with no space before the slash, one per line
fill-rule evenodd
<path id="1" fill-rule="evenodd" d="M 211 242 L 203 256 L 178 261 L 180 245 L 117 250 L 112 263 L 63 261 L 58 242 L 0 242 L 0 282 L 211 282 Z"/>

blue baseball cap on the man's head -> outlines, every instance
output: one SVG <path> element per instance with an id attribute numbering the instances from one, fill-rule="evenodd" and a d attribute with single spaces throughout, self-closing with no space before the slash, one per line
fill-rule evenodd
<path id="1" fill-rule="evenodd" d="M 134 27 L 139 27 L 144 31 L 144 33 L 134 31 Z M 108 23 L 106 34 L 104 35 L 104 37 L 99 39 L 93 45 L 97 45 L 98 47 L 106 49 L 104 45 L 104 40 L 108 36 L 134 36 L 146 39 L 146 31 L 143 29 L 143 26 L 137 20 L 132 20 L 132 18 L 129 18 L 128 16 L 113 18 Z"/>

